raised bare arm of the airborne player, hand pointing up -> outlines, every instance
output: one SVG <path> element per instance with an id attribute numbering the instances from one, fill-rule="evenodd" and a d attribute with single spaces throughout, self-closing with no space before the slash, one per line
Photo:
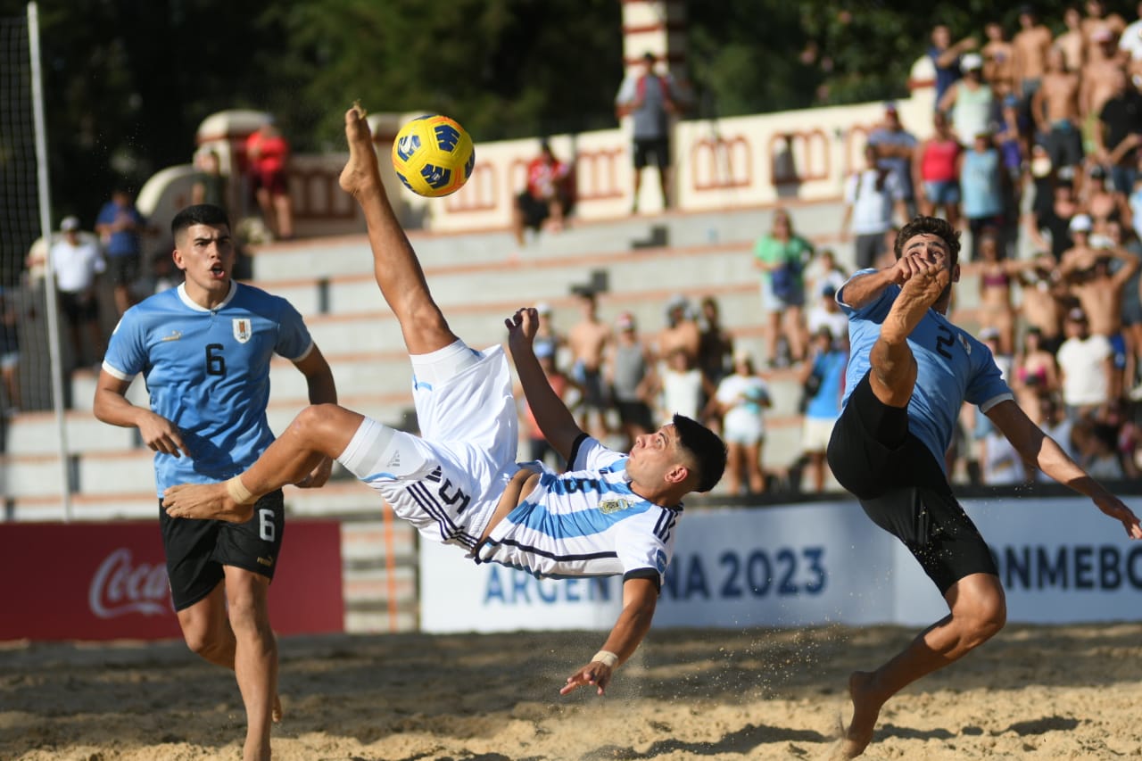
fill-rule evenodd
<path id="1" fill-rule="evenodd" d="M 533 341 L 539 327 L 539 314 L 534 307 L 516 310 L 515 314 L 504 320 L 507 326 L 507 345 L 512 352 L 523 395 L 536 416 L 536 423 L 547 442 L 570 463 L 571 448 L 582 435 L 582 430 L 576 423 L 574 416 L 563 403 L 544 374 L 544 368 L 536 359 Z"/>

